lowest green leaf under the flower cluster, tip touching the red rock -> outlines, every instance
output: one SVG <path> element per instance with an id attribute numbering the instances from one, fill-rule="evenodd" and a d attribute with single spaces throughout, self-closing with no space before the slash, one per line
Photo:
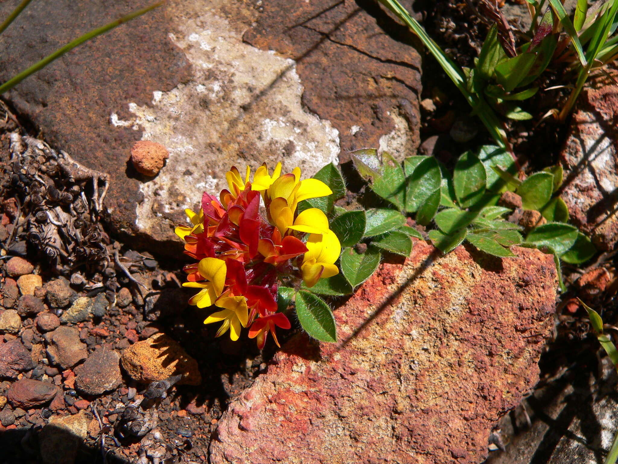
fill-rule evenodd
<path id="1" fill-rule="evenodd" d="M 296 316 L 305 332 L 321 342 L 336 342 L 337 329 L 331 308 L 324 300 L 307 290 L 296 295 Z"/>

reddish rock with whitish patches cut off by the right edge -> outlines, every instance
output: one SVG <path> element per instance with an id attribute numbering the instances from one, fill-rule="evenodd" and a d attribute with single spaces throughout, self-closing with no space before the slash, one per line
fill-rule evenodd
<path id="1" fill-rule="evenodd" d="M 603 250 L 618 241 L 617 122 L 618 85 L 608 79 L 586 88 L 561 153 L 565 170 L 561 196 L 571 220 Z"/>

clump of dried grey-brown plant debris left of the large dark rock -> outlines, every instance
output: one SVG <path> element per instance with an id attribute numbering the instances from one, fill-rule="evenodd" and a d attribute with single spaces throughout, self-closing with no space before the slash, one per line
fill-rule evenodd
<path id="1" fill-rule="evenodd" d="M 42 140 L 11 134 L 11 160 L 4 198 L 17 201 L 15 227 L 6 244 L 25 236 L 56 267 L 110 261 L 109 237 L 98 213 L 109 188 L 109 174 L 87 168 Z"/>

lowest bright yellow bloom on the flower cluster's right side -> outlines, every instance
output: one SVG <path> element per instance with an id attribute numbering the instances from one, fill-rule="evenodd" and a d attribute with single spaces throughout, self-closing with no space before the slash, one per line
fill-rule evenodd
<path id="1" fill-rule="evenodd" d="M 303 255 L 303 264 L 300 266 L 305 285 L 312 287 L 320 278 L 339 273 L 334 262 L 341 254 L 341 244 L 333 231 L 321 235 L 311 234 L 305 245 L 308 251 Z"/>

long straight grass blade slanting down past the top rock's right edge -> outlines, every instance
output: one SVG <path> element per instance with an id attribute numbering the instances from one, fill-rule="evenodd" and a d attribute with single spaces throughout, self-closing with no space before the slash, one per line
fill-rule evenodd
<path id="1" fill-rule="evenodd" d="M 397 0 L 378 0 L 381 4 L 391 10 L 405 25 L 407 25 L 413 33 L 423 42 L 423 45 L 433 54 L 434 58 L 438 61 L 444 72 L 451 78 L 455 86 L 459 89 L 459 92 L 464 95 L 464 98 L 472 106 L 475 113 L 481 119 L 489 134 L 496 140 L 496 144 L 502 148 L 509 147 L 506 132 L 503 129 L 502 122 L 498 119 L 494 110 L 487 104 L 483 97 L 468 92 L 466 87 L 466 79 L 464 72 L 458 67 L 436 42 L 427 35 L 425 29 L 408 14 L 407 10 L 401 6 Z"/>

